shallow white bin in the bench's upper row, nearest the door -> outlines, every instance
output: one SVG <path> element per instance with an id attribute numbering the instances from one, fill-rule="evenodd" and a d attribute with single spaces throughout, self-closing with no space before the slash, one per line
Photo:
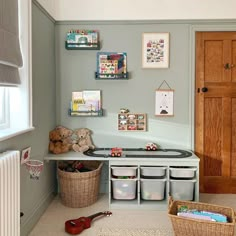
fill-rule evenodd
<path id="1" fill-rule="evenodd" d="M 195 177 L 196 170 L 197 168 L 194 167 L 171 167 L 170 177 L 191 179 Z"/>

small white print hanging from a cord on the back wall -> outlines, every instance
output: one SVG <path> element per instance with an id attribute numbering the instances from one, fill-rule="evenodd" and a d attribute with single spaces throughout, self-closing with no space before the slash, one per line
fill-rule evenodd
<path id="1" fill-rule="evenodd" d="M 156 116 L 174 116 L 174 90 L 156 90 Z"/>

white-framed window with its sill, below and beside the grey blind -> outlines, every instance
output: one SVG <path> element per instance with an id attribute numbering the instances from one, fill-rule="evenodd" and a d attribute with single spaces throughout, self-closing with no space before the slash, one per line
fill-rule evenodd
<path id="1" fill-rule="evenodd" d="M 0 141 L 28 132 L 32 127 L 31 0 L 18 0 L 19 35 L 23 56 L 18 87 L 0 87 Z"/>

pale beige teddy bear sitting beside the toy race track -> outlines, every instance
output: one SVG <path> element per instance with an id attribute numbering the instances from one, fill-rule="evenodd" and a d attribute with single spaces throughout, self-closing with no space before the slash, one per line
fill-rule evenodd
<path id="1" fill-rule="evenodd" d="M 75 152 L 85 152 L 88 149 L 94 149 L 91 139 L 92 131 L 87 128 L 80 128 L 74 131 L 74 134 L 77 135 L 76 143 L 72 145 L 72 149 Z"/>

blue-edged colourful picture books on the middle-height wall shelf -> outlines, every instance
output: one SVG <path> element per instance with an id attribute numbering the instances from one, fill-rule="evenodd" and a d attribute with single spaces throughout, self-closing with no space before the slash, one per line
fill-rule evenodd
<path id="1" fill-rule="evenodd" d="M 127 54 L 124 52 L 98 52 L 97 73 L 100 78 L 118 78 L 127 73 Z"/>

